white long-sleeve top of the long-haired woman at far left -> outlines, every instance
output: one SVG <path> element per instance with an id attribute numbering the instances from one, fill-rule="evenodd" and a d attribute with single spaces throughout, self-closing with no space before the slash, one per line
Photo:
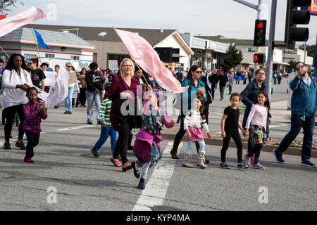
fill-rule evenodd
<path id="1" fill-rule="evenodd" d="M 2 103 L 4 103 L 4 108 L 25 104 L 28 101 L 25 91 L 23 91 L 23 89 L 17 89 L 16 85 L 28 84 L 29 86 L 32 86 L 32 79 L 29 72 L 22 68 L 20 70 L 20 76 L 14 69 L 12 71 L 4 70 L 3 72 L 2 82 L 4 83 L 4 93 L 2 94 Z M 11 72 L 12 75 L 10 78 Z"/>

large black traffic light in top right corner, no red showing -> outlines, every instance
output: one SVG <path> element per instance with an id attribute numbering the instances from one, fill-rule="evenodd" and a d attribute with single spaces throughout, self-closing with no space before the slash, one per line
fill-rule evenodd
<path id="1" fill-rule="evenodd" d="M 295 48 L 295 41 L 307 41 L 309 29 L 297 27 L 299 24 L 309 24 L 311 14 L 308 10 L 298 10 L 298 7 L 311 6 L 311 0 L 287 0 L 285 21 L 285 43 L 287 49 Z"/>

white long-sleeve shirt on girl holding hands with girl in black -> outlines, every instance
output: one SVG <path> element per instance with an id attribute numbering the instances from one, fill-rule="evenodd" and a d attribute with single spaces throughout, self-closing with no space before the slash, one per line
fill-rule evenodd
<path id="1" fill-rule="evenodd" d="M 259 104 L 252 106 L 245 128 L 250 128 L 251 125 L 263 126 L 266 128 L 266 121 L 268 120 L 268 108 L 262 107 Z"/>

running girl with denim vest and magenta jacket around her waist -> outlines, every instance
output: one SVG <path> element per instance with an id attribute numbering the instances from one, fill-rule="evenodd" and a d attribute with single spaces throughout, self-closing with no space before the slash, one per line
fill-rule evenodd
<path id="1" fill-rule="evenodd" d="M 167 128 L 172 128 L 176 121 L 174 119 L 168 121 L 166 110 L 159 106 L 159 89 L 154 89 L 149 100 L 144 101 L 144 115 L 142 128 L 136 136 L 135 145 L 133 146 L 133 153 L 137 157 L 136 162 L 132 162 L 134 174 L 139 179 L 137 188 L 145 188 L 145 179 L 147 178 L 147 171 L 150 165 L 153 165 L 161 158 L 161 145 L 163 141 L 161 137 L 161 129 L 163 124 Z M 162 94 L 163 96 L 163 94 Z M 141 175 L 139 168 L 142 168 Z"/>

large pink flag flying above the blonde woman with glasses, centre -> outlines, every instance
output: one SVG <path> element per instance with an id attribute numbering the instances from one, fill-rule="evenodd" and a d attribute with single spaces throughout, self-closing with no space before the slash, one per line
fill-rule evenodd
<path id="1" fill-rule="evenodd" d="M 113 27 L 113 29 L 123 41 L 123 44 L 125 44 L 130 57 L 135 60 L 135 63 L 137 63 L 143 70 L 154 77 L 156 82 L 163 89 L 175 93 L 182 93 L 188 89 L 188 86 L 182 87 L 180 85 L 180 82 L 178 82 L 172 72 L 170 72 L 160 60 L 159 55 L 153 49 L 151 44 L 149 44 L 143 37 L 125 30 L 116 30 L 115 27 Z"/>

